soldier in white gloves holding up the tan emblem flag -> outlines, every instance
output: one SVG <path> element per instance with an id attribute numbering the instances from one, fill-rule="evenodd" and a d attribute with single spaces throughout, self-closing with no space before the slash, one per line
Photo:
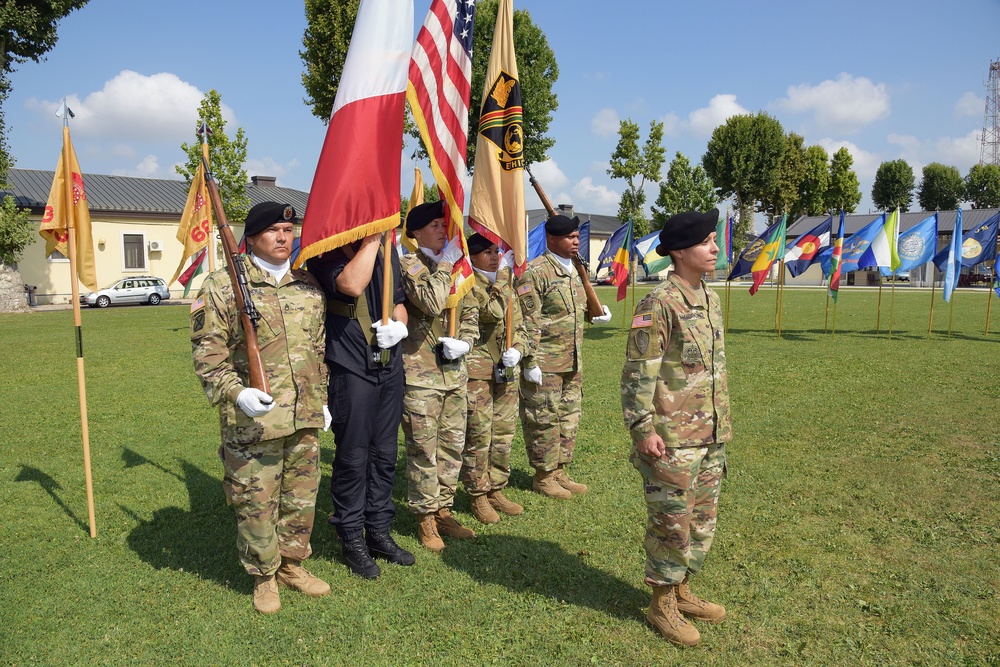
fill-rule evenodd
<path id="1" fill-rule="evenodd" d="M 497 512 L 511 516 L 524 512 L 503 494 L 517 425 L 516 369 L 524 348 L 524 319 L 521 308 L 511 301 L 514 251 L 508 250 L 501 259 L 496 245 L 480 234 L 470 236 L 468 246 L 476 273 L 473 295 L 479 308 L 479 342 L 466 355 L 469 414 L 461 477 L 472 499 L 473 516 L 482 523 L 498 523 Z M 508 305 L 513 323 L 509 347 Z"/>

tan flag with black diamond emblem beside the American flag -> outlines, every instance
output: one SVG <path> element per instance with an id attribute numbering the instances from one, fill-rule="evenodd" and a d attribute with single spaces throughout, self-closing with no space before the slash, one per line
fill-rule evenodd
<path id="1" fill-rule="evenodd" d="M 521 84 L 514 56 L 514 3 L 501 0 L 493 50 L 486 69 L 472 175 L 469 226 L 502 248 L 514 250 L 514 272 L 528 259 L 524 216 L 524 132 Z"/>

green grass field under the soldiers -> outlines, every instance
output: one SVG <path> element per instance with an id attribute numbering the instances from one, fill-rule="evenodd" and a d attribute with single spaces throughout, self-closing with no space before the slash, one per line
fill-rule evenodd
<path id="1" fill-rule="evenodd" d="M 601 292 L 613 303 L 610 289 Z M 530 492 L 520 437 L 509 495 L 526 513 L 476 524 L 412 568 L 350 575 L 325 523 L 309 567 L 332 595 L 253 611 L 192 372 L 183 306 L 83 313 L 98 537 L 87 531 L 72 313 L 0 315 L 0 663 L 10 665 L 1000 665 L 1000 334 L 986 293 L 732 291 L 734 441 L 696 590 L 729 617 L 681 650 L 643 620 L 645 508 L 628 463 L 622 310 L 587 332 L 573 477 Z M 994 303 L 994 306 L 998 304 Z M 994 328 L 1000 330 L 1000 313 Z M 832 320 L 832 308 L 831 308 Z M 402 459 L 401 459 L 402 462 Z"/>

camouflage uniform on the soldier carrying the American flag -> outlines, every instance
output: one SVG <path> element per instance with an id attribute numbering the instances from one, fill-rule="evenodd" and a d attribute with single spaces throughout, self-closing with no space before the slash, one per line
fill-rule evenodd
<path id="1" fill-rule="evenodd" d="M 406 439 L 407 503 L 414 514 L 449 508 L 462 466 L 465 443 L 465 358 L 441 364 L 435 348 L 448 335 L 451 264 L 437 264 L 423 252 L 400 259 L 406 292 L 407 328 L 403 340 L 403 435 Z M 467 294 L 455 309 L 455 338 L 476 342 L 476 302 Z"/>

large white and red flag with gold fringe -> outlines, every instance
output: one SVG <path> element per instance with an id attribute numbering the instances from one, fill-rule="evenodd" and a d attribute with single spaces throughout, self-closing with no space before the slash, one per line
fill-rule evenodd
<path id="1" fill-rule="evenodd" d="M 413 0 L 362 0 L 302 219 L 310 257 L 399 224 Z"/>

